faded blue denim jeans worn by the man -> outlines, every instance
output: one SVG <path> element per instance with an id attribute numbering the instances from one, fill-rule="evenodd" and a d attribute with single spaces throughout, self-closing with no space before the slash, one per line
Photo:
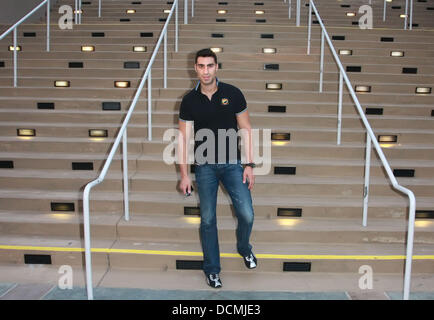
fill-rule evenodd
<path id="1" fill-rule="evenodd" d="M 237 250 L 241 256 L 252 252 L 249 244 L 253 227 L 253 206 L 248 183 L 243 183 L 243 167 L 238 164 L 196 165 L 195 176 L 200 200 L 200 237 L 205 274 L 220 273 L 220 249 L 217 231 L 217 190 L 219 181 L 229 193 L 238 219 Z"/>

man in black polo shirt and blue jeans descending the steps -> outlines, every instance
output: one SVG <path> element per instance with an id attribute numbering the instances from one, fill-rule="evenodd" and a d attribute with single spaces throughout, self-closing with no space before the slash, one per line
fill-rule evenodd
<path id="1" fill-rule="evenodd" d="M 208 285 L 220 288 L 222 282 L 219 276 L 221 267 L 216 219 L 219 181 L 230 195 L 238 219 L 236 230 L 238 253 L 243 257 L 247 268 L 253 269 L 257 265 L 257 259 L 249 243 L 254 217 L 250 190 L 255 182 L 251 126 L 246 100 L 241 91 L 232 85 L 220 82 L 216 77 L 218 71 L 216 54 L 210 49 L 198 51 L 194 69 L 199 82 L 183 97 L 179 112 L 181 157 L 179 187 L 184 194 L 191 193 L 191 179 L 187 172 L 187 141 L 188 133 L 194 124 L 195 177 L 200 200 L 203 271 Z M 243 130 L 247 141 L 244 169 L 240 161 L 238 139 L 235 139 L 235 144 L 228 143 L 231 136 L 237 133 L 238 128 Z M 202 136 L 204 132 L 211 132 L 213 135 L 208 134 L 206 141 L 201 142 L 198 136 Z M 226 132 L 224 139 L 221 139 L 222 132 Z M 218 143 L 215 143 L 216 141 Z M 209 147 L 210 142 L 214 142 L 214 146 Z M 208 148 L 203 148 L 204 146 Z"/>

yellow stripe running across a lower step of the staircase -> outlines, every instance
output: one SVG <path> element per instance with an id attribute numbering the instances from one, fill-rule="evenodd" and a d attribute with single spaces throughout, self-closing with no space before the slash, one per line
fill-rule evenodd
<path id="1" fill-rule="evenodd" d="M 52 252 L 84 252 L 84 248 L 65 247 L 37 247 L 0 245 L 0 250 L 27 250 Z M 202 252 L 165 251 L 165 250 L 137 250 L 137 249 L 109 249 L 92 248 L 93 253 L 131 253 L 164 256 L 202 257 Z M 225 258 L 239 258 L 237 253 L 222 253 Z M 296 260 L 404 260 L 405 255 L 322 255 L 322 254 L 256 254 L 260 259 L 296 259 Z M 434 260 L 434 255 L 413 255 L 414 260 Z"/>

